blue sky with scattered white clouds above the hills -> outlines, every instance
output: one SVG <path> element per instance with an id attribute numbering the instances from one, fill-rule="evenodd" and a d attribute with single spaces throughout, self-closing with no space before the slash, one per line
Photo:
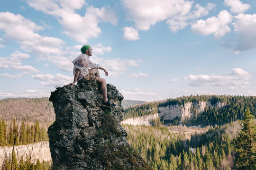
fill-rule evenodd
<path id="1" fill-rule="evenodd" d="M 256 95 L 256 0 L 0 1 L 0 99 L 50 96 L 91 60 L 124 99 Z"/>

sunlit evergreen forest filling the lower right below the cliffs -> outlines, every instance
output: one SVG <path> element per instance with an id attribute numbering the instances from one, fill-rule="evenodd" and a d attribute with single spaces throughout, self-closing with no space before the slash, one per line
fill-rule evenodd
<path id="1" fill-rule="evenodd" d="M 169 127 L 123 127 L 128 142 L 154 170 L 255 170 L 255 117 L 249 110 L 245 115 L 242 126 L 239 121 L 216 125 L 190 139 Z"/>

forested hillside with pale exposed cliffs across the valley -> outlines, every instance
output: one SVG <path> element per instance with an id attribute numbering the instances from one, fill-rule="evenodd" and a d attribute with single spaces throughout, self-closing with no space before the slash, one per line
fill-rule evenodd
<path id="1" fill-rule="evenodd" d="M 197 95 L 167 99 L 160 102 L 147 102 L 125 110 L 123 123 L 148 125 L 153 119 L 165 123 L 187 126 L 223 125 L 243 118 L 249 108 L 256 112 L 255 96 Z"/>

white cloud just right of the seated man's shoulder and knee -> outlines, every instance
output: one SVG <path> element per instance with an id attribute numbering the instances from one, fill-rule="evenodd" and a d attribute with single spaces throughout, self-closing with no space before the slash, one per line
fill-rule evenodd
<path id="1" fill-rule="evenodd" d="M 101 62 L 101 66 L 109 71 L 110 76 L 118 76 L 123 74 L 131 66 L 139 66 L 141 59 L 105 59 Z"/>

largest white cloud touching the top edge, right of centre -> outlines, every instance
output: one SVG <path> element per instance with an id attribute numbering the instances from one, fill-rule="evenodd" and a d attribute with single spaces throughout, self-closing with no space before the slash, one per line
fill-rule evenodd
<path id="1" fill-rule="evenodd" d="M 176 33 L 177 30 L 183 29 L 189 25 L 189 20 L 203 17 L 209 14 L 209 10 L 216 5 L 207 3 L 205 7 L 195 4 L 189 0 L 122 0 L 125 8 L 128 9 L 128 17 L 135 22 L 137 30 L 146 31 L 150 26 L 154 26 L 157 22 L 166 21 L 169 29 Z M 134 30 L 137 35 L 137 30 Z M 128 38 L 130 37 L 128 36 Z M 131 36 L 134 40 L 137 36 Z M 124 38 L 126 38 L 124 36 Z"/>

